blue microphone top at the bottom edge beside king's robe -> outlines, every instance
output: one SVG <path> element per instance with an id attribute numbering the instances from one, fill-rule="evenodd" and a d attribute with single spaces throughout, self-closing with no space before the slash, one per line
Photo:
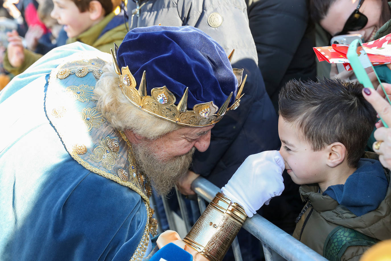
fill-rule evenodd
<path id="1" fill-rule="evenodd" d="M 174 243 L 159 249 L 149 261 L 193 261 L 193 256 Z"/>

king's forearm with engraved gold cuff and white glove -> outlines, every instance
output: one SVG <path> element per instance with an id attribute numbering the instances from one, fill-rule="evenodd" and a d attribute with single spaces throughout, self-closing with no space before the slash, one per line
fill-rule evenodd
<path id="1" fill-rule="evenodd" d="M 284 169 L 278 151 L 250 155 L 183 239 L 186 245 L 180 242 L 177 233 L 166 231 L 161 236 L 167 240 L 161 240 L 159 247 L 174 243 L 192 254 L 194 260 L 221 260 L 246 218 L 282 193 Z"/>

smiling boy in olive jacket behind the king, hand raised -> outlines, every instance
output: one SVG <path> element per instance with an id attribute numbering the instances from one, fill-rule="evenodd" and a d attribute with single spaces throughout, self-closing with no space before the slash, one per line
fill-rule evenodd
<path id="1" fill-rule="evenodd" d="M 110 52 L 113 43 L 119 46 L 127 33 L 124 16 L 118 14 L 120 0 L 53 0 L 53 3 L 51 16 L 64 25 L 68 36 L 66 43 L 80 41 Z M 8 33 L 8 37 L 4 68 L 17 75 L 41 55 L 23 48 L 22 39 L 16 31 Z"/>

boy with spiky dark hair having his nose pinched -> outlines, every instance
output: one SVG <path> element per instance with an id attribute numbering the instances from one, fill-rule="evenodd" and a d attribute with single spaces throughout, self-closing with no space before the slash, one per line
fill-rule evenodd
<path id="1" fill-rule="evenodd" d="M 391 238 L 389 173 L 361 158 L 376 122 L 361 90 L 326 78 L 293 80 L 278 101 L 280 154 L 306 202 L 293 236 L 330 260 L 358 260 Z"/>

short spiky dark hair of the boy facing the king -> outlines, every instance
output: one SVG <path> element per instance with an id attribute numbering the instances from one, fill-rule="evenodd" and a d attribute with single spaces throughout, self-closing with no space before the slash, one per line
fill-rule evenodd
<path id="1" fill-rule="evenodd" d="M 362 88 L 339 79 L 291 80 L 280 92 L 279 114 L 297 124 L 313 151 L 333 142 L 344 144 L 347 163 L 355 167 L 376 122 L 376 112 L 362 96 Z"/>

